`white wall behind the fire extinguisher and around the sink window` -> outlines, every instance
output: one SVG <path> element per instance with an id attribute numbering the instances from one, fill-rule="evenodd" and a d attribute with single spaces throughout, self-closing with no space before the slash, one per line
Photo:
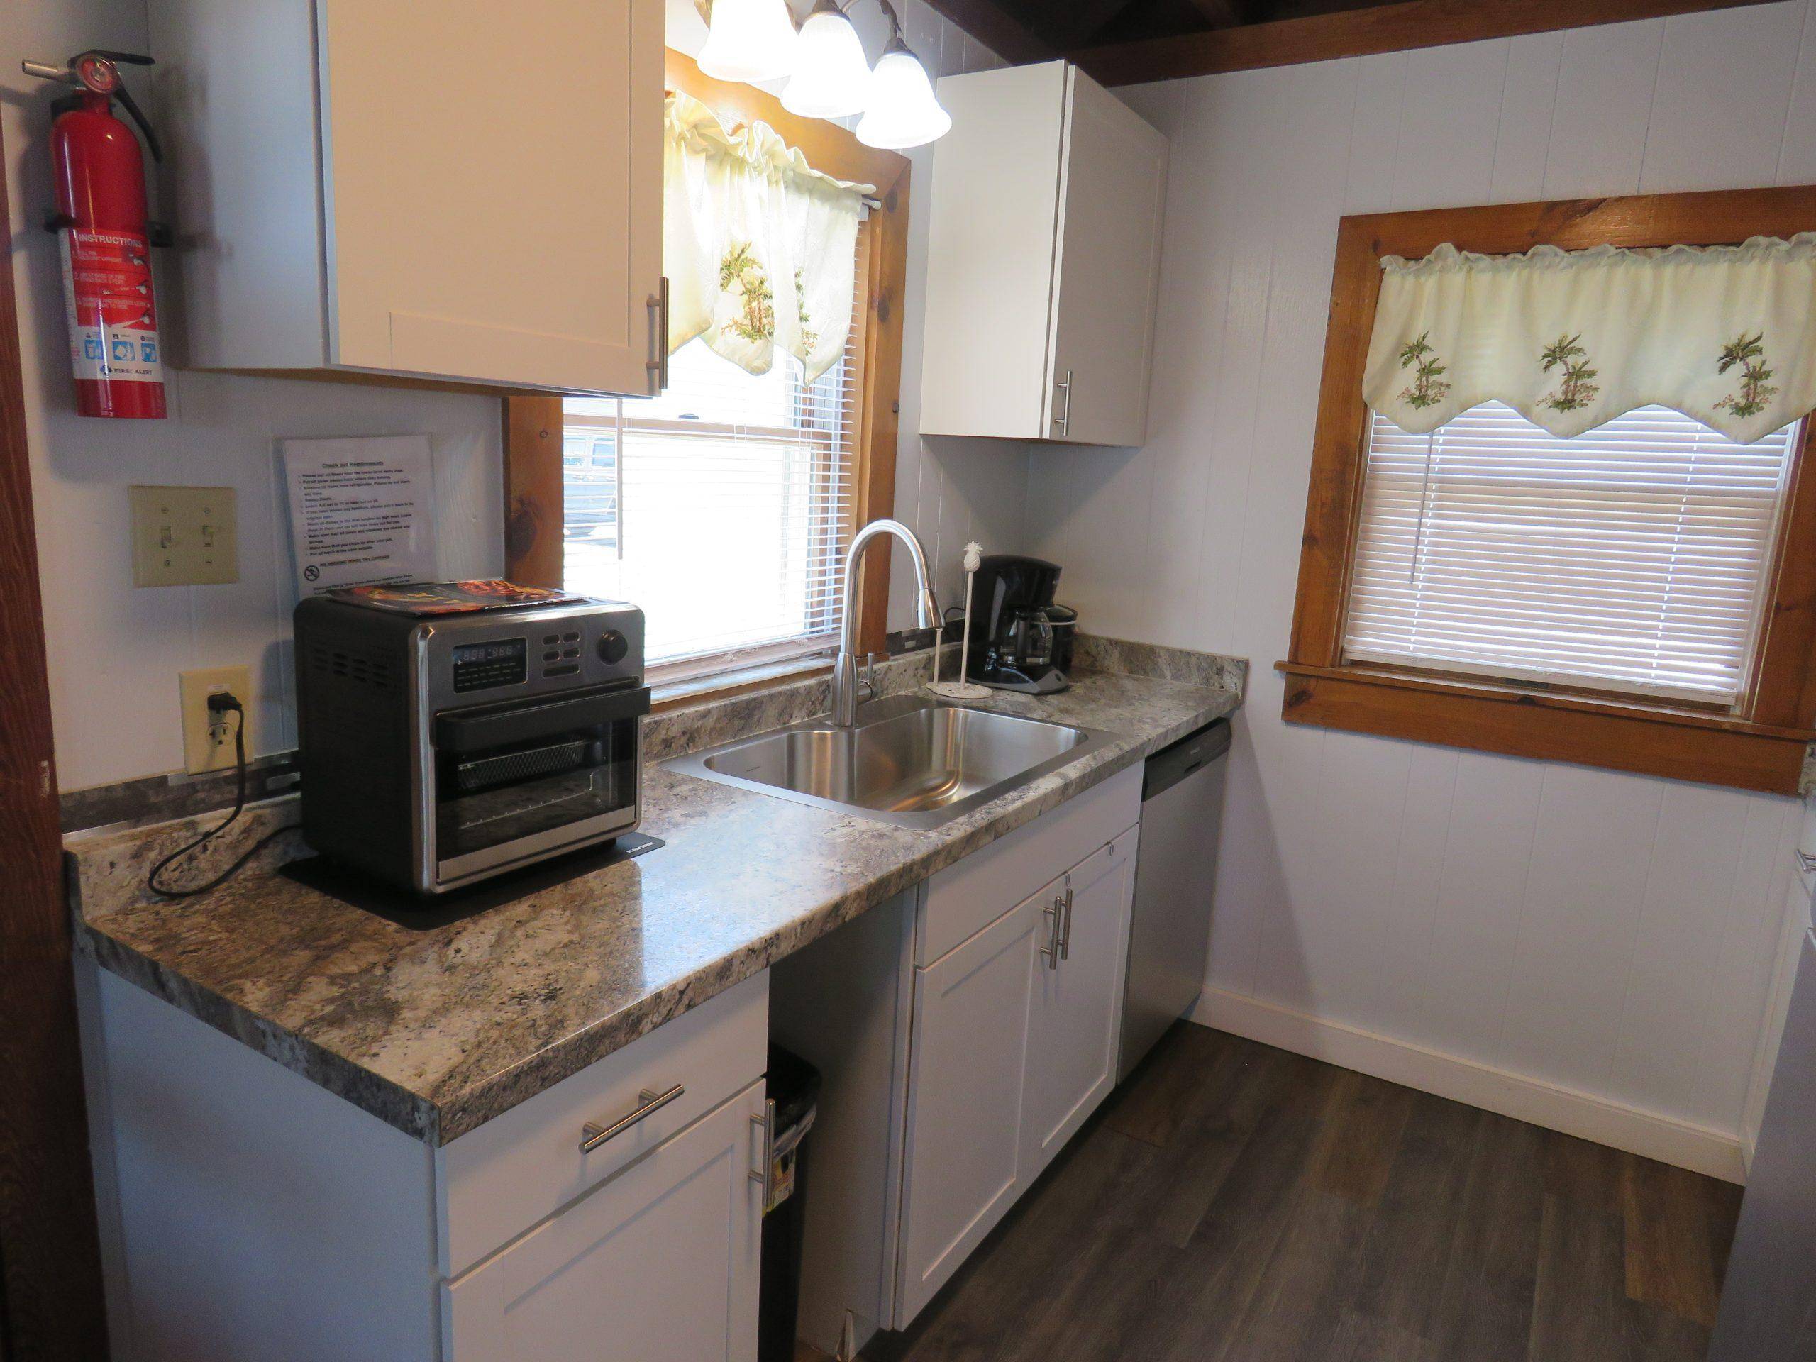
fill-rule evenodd
<path id="1" fill-rule="evenodd" d="M 65 790 L 180 768 L 176 674 L 192 666 L 251 665 L 258 690 L 256 750 L 296 745 L 289 661 L 294 592 L 278 439 L 427 432 L 436 458 L 439 572 L 456 577 L 503 570 L 494 398 L 171 370 L 167 421 L 74 414 L 54 238 L 35 225 L 51 200 L 45 140 L 47 105 L 56 91 L 20 74 L 18 62 L 60 60 L 84 47 L 145 51 L 145 0 L 38 0 L 0 11 L 0 129 L 13 209 L 13 278 L 58 781 Z M 879 15 L 875 5 L 859 5 L 873 56 L 883 44 Z M 908 0 L 904 16 L 910 42 L 941 73 L 997 62 L 921 0 Z M 672 0 L 670 25 L 674 45 L 697 51 L 699 18 L 688 0 Z M 129 71 L 127 78 L 140 93 L 147 89 L 143 73 Z M 915 153 L 897 508 L 923 534 L 928 552 L 939 556 L 941 599 L 950 599 L 968 534 L 981 534 L 992 547 L 1019 547 L 1028 470 L 1019 447 L 939 441 L 924 450 L 915 432 L 930 169 L 930 154 Z M 169 331 L 176 321 L 176 280 L 165 256 L 156 269 Z M 240 583 L 134 588 L 129 483 L 238 489 Z M 904 556 L 895 561 L 904 563 Z M 903 596 L 899 608 L 892 608 L 893 627 L 912 623 L 912 597 Z"/>

